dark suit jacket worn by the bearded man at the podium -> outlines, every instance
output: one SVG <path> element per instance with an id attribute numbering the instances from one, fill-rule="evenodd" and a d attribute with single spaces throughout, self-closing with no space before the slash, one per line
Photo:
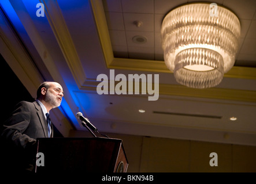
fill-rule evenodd
<path id="1" fill-rule="evenodd" d="M 53 137 L 53 125 L 51 130 Z M 14 154 L 15 161 L 14 158 L 11 161 L 16 165 L 18 163 L 17 167 L 33 169 L 31 164 L 35 165 L 36 138 L 48 137 L 46 118 L 38 102 L 18 103 L 12 116 L 5 121 L 1 135 L 5 151 L 12 157 Z"/>

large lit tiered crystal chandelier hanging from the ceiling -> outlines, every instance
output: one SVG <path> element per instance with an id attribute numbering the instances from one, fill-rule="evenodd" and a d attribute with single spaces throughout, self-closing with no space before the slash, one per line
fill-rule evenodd
<path id="1" fill-rule="evenodd" d="M 179 6 L 162 22 L 165 64 L 176 81 L 188 87 L 218 85 L 235 63 L 239 19 L 225 7 L 212 4 Z"/>

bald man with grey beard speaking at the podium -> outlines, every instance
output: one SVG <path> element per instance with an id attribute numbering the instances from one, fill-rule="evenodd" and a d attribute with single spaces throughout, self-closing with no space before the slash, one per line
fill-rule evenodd
<path id="1" fill-rule="evenodd" d="M 64 96 L 57 82 L 43 82 L 37 90 L 35 102 L 21 101 L 12 116 L 3 124 L 1 133 L 8 150 L 6 171 L 34 171 L 36 138 L 53 137 L 49 112 L 61 105 Z"/>

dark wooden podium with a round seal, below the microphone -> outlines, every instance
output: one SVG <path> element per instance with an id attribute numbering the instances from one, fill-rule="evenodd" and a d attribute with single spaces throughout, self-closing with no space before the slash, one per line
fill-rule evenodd
<path id="1" fill-rule="evenodd" d="M 49 171 L 127 172 L 128 161 L 121 139 L 103 137 L 38 138 L 37 144 L 36 173 Z"/>

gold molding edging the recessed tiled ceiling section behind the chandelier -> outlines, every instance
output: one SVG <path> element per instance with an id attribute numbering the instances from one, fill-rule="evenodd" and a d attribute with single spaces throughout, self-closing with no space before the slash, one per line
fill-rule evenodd
<path id="1" fill-rule="evenodd" d="M 91 0 L 91 7 L 107 68 L 172 73 L 163 61 L 115 58 L 102 1 Z M 232 67 L 224 77 L 256 80 L 256 68 Z"/>

